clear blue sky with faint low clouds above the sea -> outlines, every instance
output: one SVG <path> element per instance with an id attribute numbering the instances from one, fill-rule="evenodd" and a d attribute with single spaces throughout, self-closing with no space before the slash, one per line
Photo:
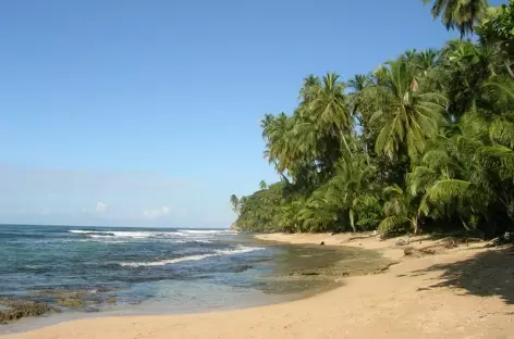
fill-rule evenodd
<path id="1" fill-rule="evenodd" d="M 302 79 L 455 34 L 416 0 L 0 2 L 0 223 L 229 227 Z"/>

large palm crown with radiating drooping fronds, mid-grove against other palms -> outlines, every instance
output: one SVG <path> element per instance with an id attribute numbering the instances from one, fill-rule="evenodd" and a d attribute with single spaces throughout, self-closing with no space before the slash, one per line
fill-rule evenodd
<path id="1" fill-rule="evenodd" d="M 404 58 L 387 63 L 374 93 L 382 109 L 370 121 L 383 123 L 376 141 L 377 153 L 393 159 L 406 150 L 411 159 L 416 159 L 444 121 L 444 96 L 419 91 Z"/>

